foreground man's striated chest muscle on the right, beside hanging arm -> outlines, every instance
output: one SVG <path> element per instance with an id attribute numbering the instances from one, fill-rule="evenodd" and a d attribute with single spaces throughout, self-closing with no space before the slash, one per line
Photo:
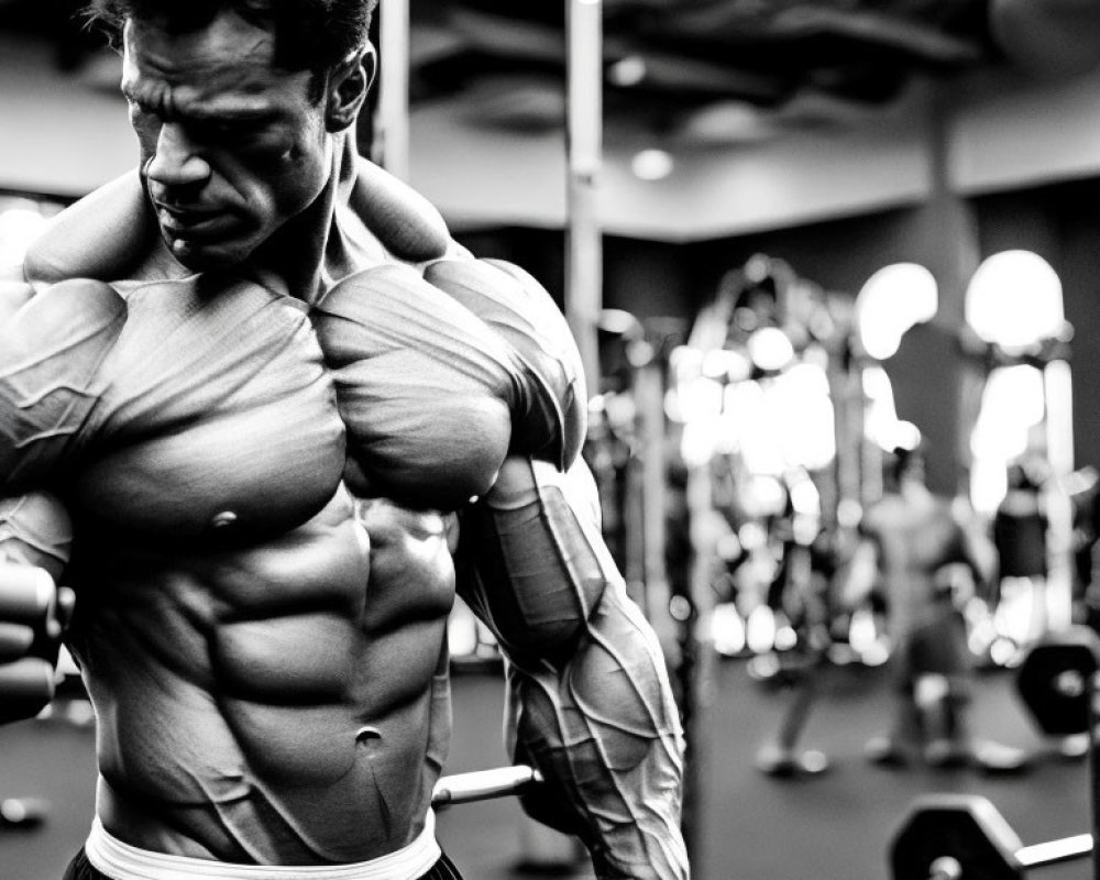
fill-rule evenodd
<path id="1" fill-rule="evenodd" d="M 314 312 L 364 496 L 452 510 L 493 483 L 521 396 L 507 346 L 411 270 L 338 285 Z"/>

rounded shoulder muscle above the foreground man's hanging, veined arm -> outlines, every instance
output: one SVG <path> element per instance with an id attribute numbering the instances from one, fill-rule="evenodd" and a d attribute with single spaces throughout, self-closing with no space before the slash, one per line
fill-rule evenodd
<path id="1" fill-rule="evenodd" d="M 587 397 L 576 344 L 550 295 L 504 261 L 438 260 L 424 276 L 492 327 L 526 367 L 529 406 L 515 426 L 518 451 L 569 468 L 584 442 Z"/>

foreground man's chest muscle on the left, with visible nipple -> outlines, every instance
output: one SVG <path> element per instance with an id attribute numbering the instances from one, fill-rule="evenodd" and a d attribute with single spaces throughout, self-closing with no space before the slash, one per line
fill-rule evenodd
<path id="1" fill-rule="evenodd" d="M 332 497 L 343 426 L 305 314 L 245 283 L 136 290 L 78 498 L 128 529 L 283 530 Z"/>

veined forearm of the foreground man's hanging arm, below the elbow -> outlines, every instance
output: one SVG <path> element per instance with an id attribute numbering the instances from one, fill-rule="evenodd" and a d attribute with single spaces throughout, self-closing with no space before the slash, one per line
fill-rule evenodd
<path id="1" fill-rule="evenodd" d="M 686 878 L 683 733 L 656 637 L 622 584 L 564 666 L 508 671 L 515 751 L 571 803 L 597 876 Z"/>

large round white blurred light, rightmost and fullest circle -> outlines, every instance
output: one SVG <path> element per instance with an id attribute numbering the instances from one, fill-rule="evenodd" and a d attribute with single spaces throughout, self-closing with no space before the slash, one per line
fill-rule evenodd
<path id="1" fill-rule="evenodd" d="M 1038 254 L 1002 251 L 987 258 L 966 292 L 966 321 L 986 342 L 1023 351 L 1065 324 L 1062 282 Z"/>

